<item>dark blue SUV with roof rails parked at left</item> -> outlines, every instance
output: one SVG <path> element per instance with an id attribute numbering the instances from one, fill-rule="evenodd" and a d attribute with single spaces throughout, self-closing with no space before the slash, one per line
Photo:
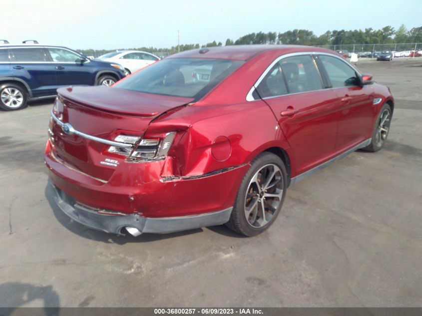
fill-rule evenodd
<path id="1" fill-rule="evenodd" d="M 0 45 L 0 107 L 18 110 L 27 100 L 53 97 L 69 85 L 111 85 L 125 76 L 117 63 L 90 60 L 66 47 Z"/>

